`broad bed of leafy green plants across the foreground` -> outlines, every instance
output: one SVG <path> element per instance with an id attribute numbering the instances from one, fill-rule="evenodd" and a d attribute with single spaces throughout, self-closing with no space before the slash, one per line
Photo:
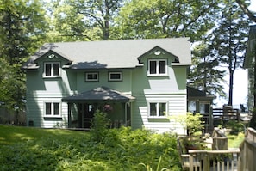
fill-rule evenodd
<path id="1" fill-rule="evenodd" d="M 37 133 L 37 129 L 27 129 L 34 135 Z M 0 170 L 144 171 L 140 163 L 158 170 L 181 170 L 177 137 L 173 135 L 133 131 L 130 127 L 109 129 L 105 133 L 99 143 L 91 139 L 91 132 L 51 130 L 21 143 L 2 145 Z"/>

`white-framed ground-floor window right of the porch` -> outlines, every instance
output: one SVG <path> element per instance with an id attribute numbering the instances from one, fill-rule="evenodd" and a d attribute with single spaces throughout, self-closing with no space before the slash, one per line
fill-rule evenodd
<path id="1" fill-rule="evenodd" d="M 167 102 L 149 102 L 148 117 L 149 118 L 166 118 Z"/>

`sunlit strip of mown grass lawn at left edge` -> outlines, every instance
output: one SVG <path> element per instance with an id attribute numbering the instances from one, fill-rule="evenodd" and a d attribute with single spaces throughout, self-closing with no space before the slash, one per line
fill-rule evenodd
<path id="1" fill-rule="evenodd" d="M 86 132 L 84 131 L 70 131 L 64 129 L 41 129 L 34 127 L 0 125 L 0 145 L 16 144 L 19 142 L 26 142 L 31 139 L 39 140 L 41 138 L 54 135 L 61 135 L 61 137 L 79 137 L 85 133 Z"/>

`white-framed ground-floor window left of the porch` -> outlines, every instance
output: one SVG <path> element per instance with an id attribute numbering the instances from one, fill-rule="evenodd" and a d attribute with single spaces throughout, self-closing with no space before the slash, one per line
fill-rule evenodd
<path id="1" fill-rule="evenodd" d="M 44 103 L 44 116 L 45 117 L 60 117 L 60 102 L 45 102 Z"/>

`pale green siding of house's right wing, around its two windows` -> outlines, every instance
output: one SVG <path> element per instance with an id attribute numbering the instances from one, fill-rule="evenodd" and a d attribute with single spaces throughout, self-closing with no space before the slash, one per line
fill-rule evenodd
<path id="1" fill-rule="evenodd" d="M 185 115 L 187 106 L 186 68 L 168 66 L 168 76 L 147 76 L 147 67 L 140 67 L 133 73 L 133 96 L 136 103 L 132 113 L 132 127 L 145 127 L 157 132 L 173 131 L 178 135 L 186 133 L 184 126 L 175 123 L 172 116 Z M 165 119 L 148 117 L 148 102 L 166 101 Z"/>

